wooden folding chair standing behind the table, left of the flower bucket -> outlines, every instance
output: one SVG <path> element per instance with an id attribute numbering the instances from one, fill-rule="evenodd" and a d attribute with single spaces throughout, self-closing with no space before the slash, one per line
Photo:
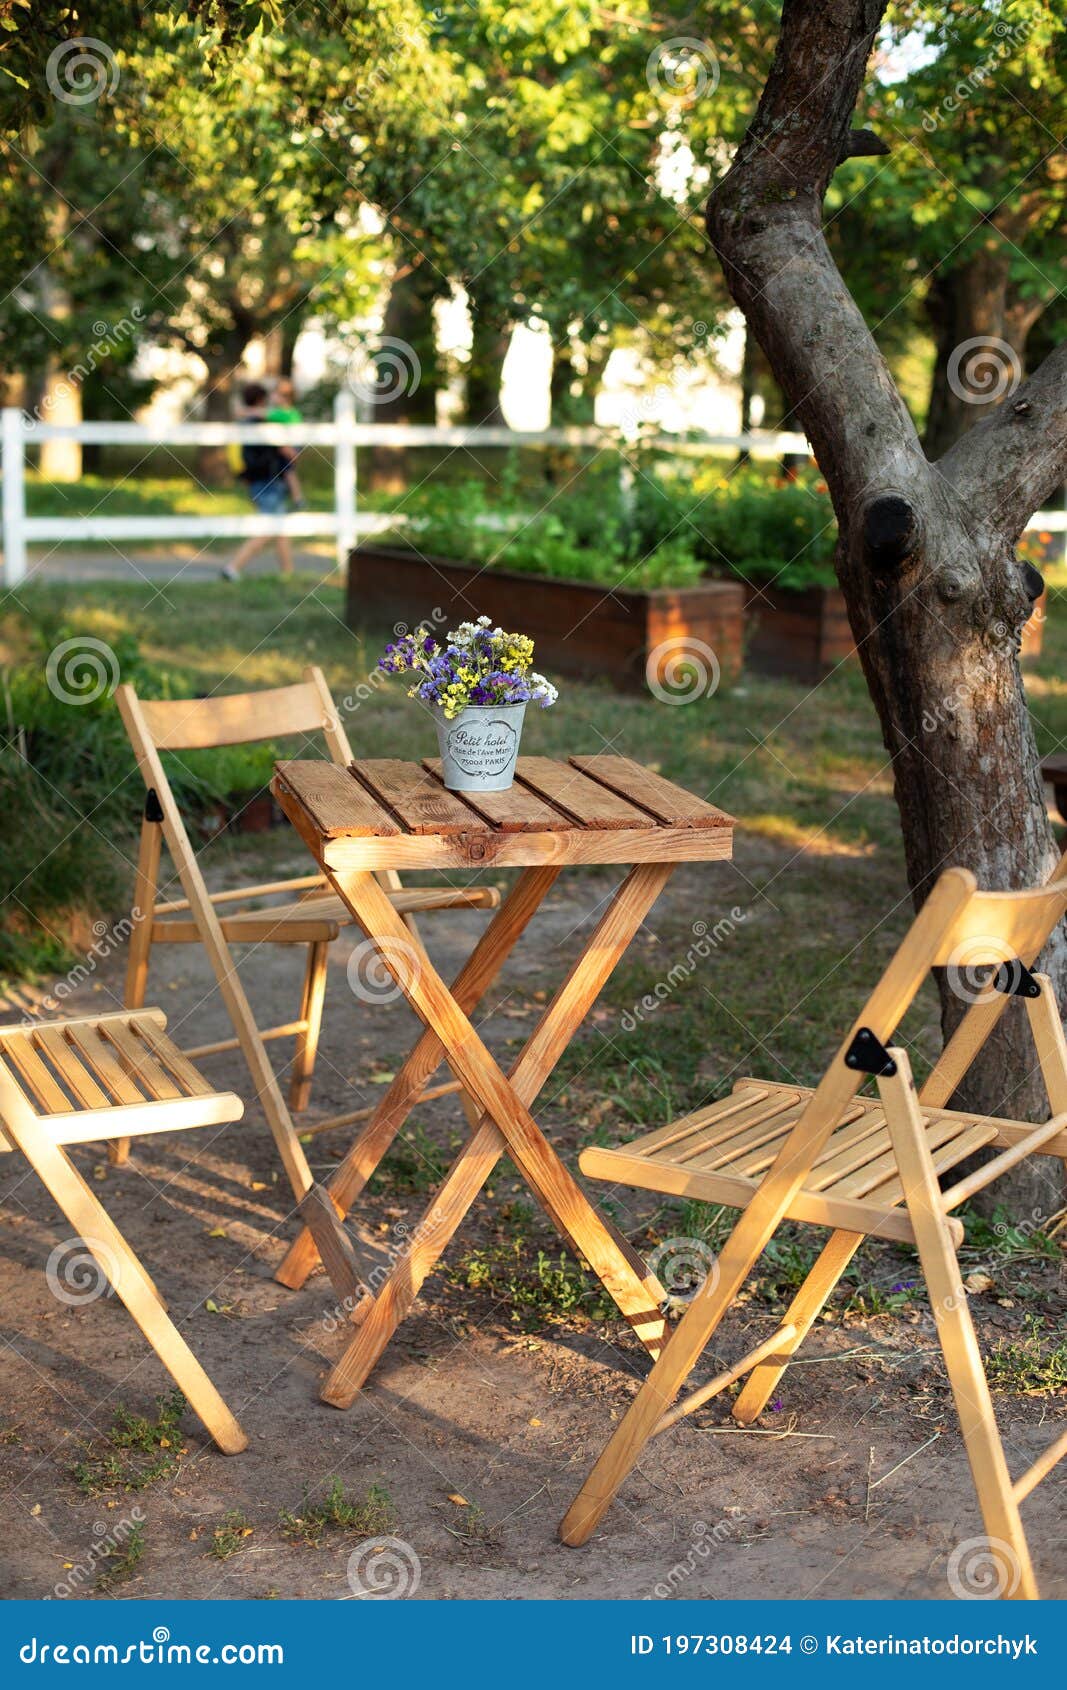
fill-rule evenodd
<path id="1" fill-rule="evenodd" d="M 181 811 L 167 781 L 161 752 L 183 752 L 220 745 L 247 745 L 255 740 L 287 735 L 320 735 L 331 762 L 352 762 L 348 739 L 325 676 L 318 668 L 304 669 L 294 686 L 277 686 L 259 693 L 227 693 L 216 698 L 147 700 L 132 686 L 115 691 L 137 766 L 147 788 L 140 850 L 134 889 L 134 930 L 127 963 L 125 1004 L 137 1009 L 144 1002 L 149 957 L 154 945 L 203 945 L 211 960 L 218 987 L 233 1024 L 233 1038 L 200 1044 L 188 1056 L 211 1056 L 240 1048 L 267 1115 L 298 1202 L 311 1190 L 308 1159 L 296 1136 L 291 1110 L 306 1109 L 326 989 L 328 951 L 343 926 L 353 921 L 345 902 L 321 874 L 264 886 L 242 886 L 208 892 L 196 852 L 186 833 Z M 157 902 L 159 865 L 166 840 L 184 897 Z M 421 943 L 414 928 L 414 911 L 455 909 L 460 906 L 495 908 L 494 887 L 402 887 L 396 872 L 379 875 L 394 908 L 404 914 L 413 943 Z M 289 894 L 282 904 L 255 909 L 232 909 L 232 904 Z M 223 908 L 225 906 L 225 908 Z M 303 945 L 306 946 L 304 985 L 299 1016 L 277 1028 L 259 1028 L 238 979 L 230 945 Z M 296 1053 L 289 1080 L 289 1105 L 282 1098 L 271 1066 L 265 1041 L 294 1038 Z M 457 1083 L 438 1087 L 460 1090 Z M 369 1115 L 353 1110 L 316 1122 L 315 1131 L 347 1126 Z M 112 1159 L 122 1161 L 127 1146 L 115 1144 Z"/>

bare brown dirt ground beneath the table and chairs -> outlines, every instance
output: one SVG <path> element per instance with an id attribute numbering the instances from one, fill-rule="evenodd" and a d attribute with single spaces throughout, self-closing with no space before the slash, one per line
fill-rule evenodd
<path id="1" fill-rule="evenodd" d="M 286 835 L 260 848 L 257 867 L 264 864 L 269 872 L 306 872 Z M 653 918 L 656 931 L 692 909 L 700 872 L 675 877 Z M 729 908 L 736 870 L 715 874 Z M 514 1056 L 516 1041 L 533 1028 L 561 953 L 575 948 L 607 886 L 595 872 L 565 877 L 531 928 L 495 994 L 499 1012 L 487 1014 L 482 1028 L 499 1060 Z M 446 975 L 485 919 L 480 913 L 426 918 L 424 933 Z M 352 943 L 342 938 L 331 958 L 309 1119 L 380 1097 L 414 1036 L 402 1004 L 372 1007 L 352 995 L 345 972 Z M 296 957 L 259 950 L 247 957 L 245 975 L 260 1019 L 296 1012 Z M 149 1000 L 166 1009 L 186 1046 L 220 1036 L 211 985 L 198 950 L 156 953 Z M 115 955 L 78 987 L 69 1007 L 117 1006 L 120 989 Z M 274 1046 L 279 1061 L 287 1049 Z M 238 1056 L 201 1066 L 220 1087 L 249 1097 Z M 541 1115 L 572 1156 L 565 1098 L 563 1087 L 550 1085 Z M 421 1109 L 418 1120 L 426 1129 L 419 1142 L 440 1144 L 462 1124 L 453 1098 Z M 609 1117 L 605 1129 L 622 1136 L 629 1124 Z M 335 1132 L 311 1142 L 320 1176 L 347 1141 L 347 1132 Z M 418 1159 L 418 1148 L 411 1154 Z M 216 1134 L 140 1139 L 125 1168 L 108 1168 L 98 1146 L 76 1151 L 76 1161 L 144 1256 L 250 1447 L 238 1457 L 220 1455 L 186 1411 L 166 1447 L 162 1433 L 156 1440 L 152 1460 L 162 1467 L 156 1482 L 130 1492 L 115 1470 L 86 1479 L 101 1452 L 115 1448 L 108 1428 L 120 1406 L 152 1415 L 169 1379 L 117 1298 L 78 1305 L 52 1295 L 42 1268 L 64 1242 L 64 1224 L 36 1178 L 7 1158 L 0 1169 L 5 1597 L 350 1599 L 350 1556 L 379 1535 L 406 1546 L 397 1553 L 408 1594 L 418 1599 L 932 1597 L 950 1594 L 954 1548 L 981 1535 L 925 1303 L 820 1323 L 761 1428 L 734 1428 L 719 1399 L 649 1445 L 594 1541 L 570 1550 L 556 1540 L 558 1521 L 636 1389 L 643 1359 L 614 1322 L 575 1311 L 526 1330 L 529 1322 L 516 1322 L 507 1300 L 448 1271 L 463 1251 L 497 1235 L 519 1190 L 509 1163 L 365 1391 L 338 1413 L 318 1399 L 345 1337 L 330 1284 L 320 1273 L 291 1293 L 272 1278 L 294 1220 L 255 1107 Z M 379 1181 L 360 1202 L 353 1230 L 380 1244 L 394 1229 L 414 1225 L 428 1202 L 430 1186 Z M 617 1210 L 641 1244 L 639 1215 Z M 524 1247 L 551 1249 L 539 1215 L 529 1232 Z M 977 1301 L 982 1340 L 994 1340 L 1013 1313 Z M 751 1347 L 773 1317 L 758 1303 L 737 1306 L 697 1379 Z M 998 1411 L 1018 1472 L 1050 1440 L 1062 1393 L 1001 1396 Z M 335 1479 L 355 1501 L 380 1487 L 389 1506 L 352 1529 L 320 1535 L 284 1524 L 281 1516 L 304 1518 Z M 86 1494 L 96 1484 L 98 1494 Z M 134 1509 L 144 1516 L 135 1533 L 142 1553 L 108 1582 L 93 1546 L 110 1536 L 129 1541 L 122 1523 L 137 1521 Z M 1035 1492 L 1025 1516 L 1043 1594 L 1067 1597 L 1064 1479 Z M 223 1550 L 233 1553 L 220 1558 Z M 91 1573 L 78 1572 L 86 1565 Z"/>

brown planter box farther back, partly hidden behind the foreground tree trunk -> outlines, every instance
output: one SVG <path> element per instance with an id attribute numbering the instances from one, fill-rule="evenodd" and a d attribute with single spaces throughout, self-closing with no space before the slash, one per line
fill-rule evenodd
<path id="1" fill-rule="evenodd" d="M 818 681 L 839 662 L 856 657 L 845 595 L 839 586 L 807 586 L 800 593 L 746 588 L 746 662 L 759 674 Z M 1023 629 L 1023 659 L 1042 651 L 1045 593 Z"/>

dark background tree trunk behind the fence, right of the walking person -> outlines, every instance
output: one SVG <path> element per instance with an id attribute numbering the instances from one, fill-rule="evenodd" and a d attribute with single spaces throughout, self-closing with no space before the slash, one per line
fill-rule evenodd
<path id="1" fill-rule="evenodd" d="M 392 281 L 375 358 L 374 422 L 421 422 L 433 428 L 438 414 L 440 360 L 433 306 L 436 289 L 424 269 L 401 270 Z M 374 446 L 370 487 L 402 493 L 408 453 L 402 446 Z"/>

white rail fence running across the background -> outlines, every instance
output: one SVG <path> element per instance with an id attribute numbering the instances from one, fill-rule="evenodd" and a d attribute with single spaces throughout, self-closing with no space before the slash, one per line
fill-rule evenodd
<path id="1" fill-rule="evenodd" d="M 25 510 L 25 451 L 46 439 L 74 439 L 83 444 L 152 446 L 328 446 L 333 450 L 333 510 L 291 510 L 284 515 L 74 515 L 32 517 Z M 3 466 L 3 581 L 15 586 L 25 578 L 27 546 L 34 542 L 78 541 L 169 541 L 169 539 L 247 539 L 254 534 L 289 534 L 293 537 L 333 536 L 338 564 L 343 566 L 358 534 L 394 526 L 389 515 L 357 510 L 357 450 L 360 446 L 436 446 L 436 448 L 516 448 L 516 446 L 588 446 L 626 453 L 634 441 L 604 428 L 555 428 L 524 433 L 509 428 L 431 428 L 391 422 L 357 422 L 355 399 L 340 392 L 331 422 L 78 422 L 59 426 L 37 422 L 17 407 L 3 411 L 0 424 Z M 702 458 L 715 451 L 747 451 L 756 458 L 808 455 L 803 434 L 749 433 L 705 434 L 678 439 L 673 434 L 641 436 L 643 451 L 658 450 L 675 456 Z M 1031 529 L 1067 534 L 1065 510 L 1038 510 Z"/>

